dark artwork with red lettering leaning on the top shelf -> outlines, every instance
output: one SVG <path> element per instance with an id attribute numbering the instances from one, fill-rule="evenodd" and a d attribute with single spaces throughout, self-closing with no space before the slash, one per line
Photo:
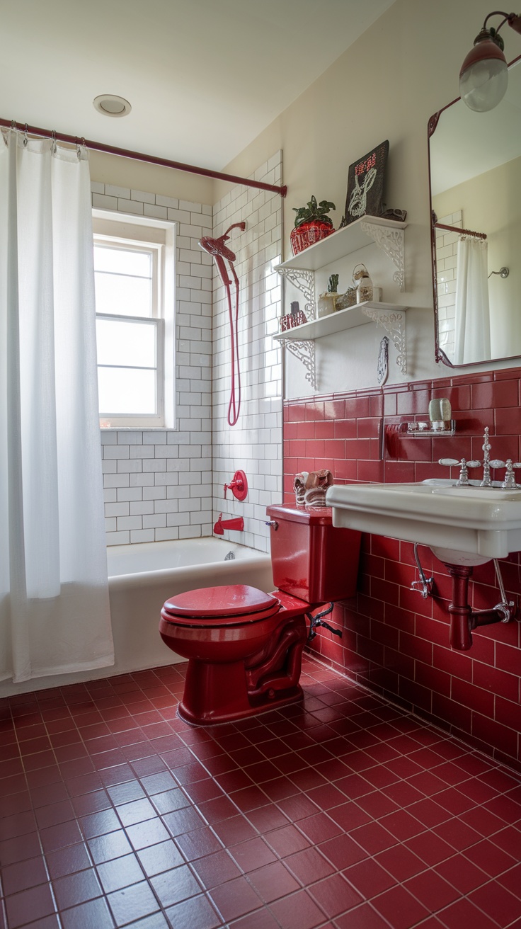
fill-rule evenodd
<path id="1" fill-rule="evenodd" d="M 388 139 L 368 151 L 363 158 L 349 165 L 345 214 L 341 223 L 349 223 L 360 216 L 381 216 L 384 194 L 384 174 L 389 152 Z"/>

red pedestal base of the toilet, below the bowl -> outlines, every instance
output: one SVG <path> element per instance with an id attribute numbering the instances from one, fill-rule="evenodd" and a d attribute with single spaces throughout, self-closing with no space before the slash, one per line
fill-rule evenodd
<path id="1" fill-rule="evenodd" d="M 306 638 L 301 613 L 280 623 L 275 642 L 242 661 L 190 658 L 178 715 L 191 726 L 215 726 L 301 700 Z"/>

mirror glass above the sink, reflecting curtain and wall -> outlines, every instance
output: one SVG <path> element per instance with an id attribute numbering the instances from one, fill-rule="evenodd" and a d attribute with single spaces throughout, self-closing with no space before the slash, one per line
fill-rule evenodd
<path id="1" fill-rule="evenodd" d="M 436 115 L 436 360 L 459 366 L 521 356 L 521 61 L 510 65 L 494 110 L 475 112 L 459 99 Z"/>

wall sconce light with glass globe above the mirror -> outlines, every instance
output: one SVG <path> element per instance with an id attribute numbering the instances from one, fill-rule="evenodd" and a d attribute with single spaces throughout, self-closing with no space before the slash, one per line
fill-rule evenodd
<path id="1" fill-rule="evenodd" d="M 487 28 L 491 16 L 504 18 L 497 29 Z M 460 95 L 471 110 L 493 110 L 506 93 L 508 67 L 503 55 L 504 43 L 498 35 L 505 22 L 508 22 L 516 33 L 521 33 L 521 16 L 502 13 L 501 10 L 488 13 L 481 32 L 475 37 L 474 48 L 462 63 Z"/>

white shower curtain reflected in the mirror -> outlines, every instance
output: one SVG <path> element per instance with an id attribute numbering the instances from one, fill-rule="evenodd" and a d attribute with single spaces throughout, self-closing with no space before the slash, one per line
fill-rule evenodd
<path id="1" fill-rule="evenodd" d="M 490 359 L 487 252 L 486 239 L 458 241 L 454 364 Z"/>

